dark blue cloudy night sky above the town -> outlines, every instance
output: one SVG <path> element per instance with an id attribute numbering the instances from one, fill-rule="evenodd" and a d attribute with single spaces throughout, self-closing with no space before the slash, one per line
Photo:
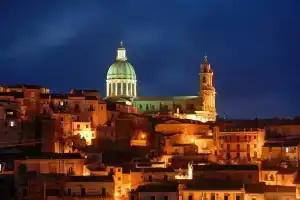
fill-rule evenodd
<path id="1" fill-rule="evenodd" d="M 299 115 L 299 8 L 299 0 L 2 0 L 0 84 L 105 95 L 122 40 L 139 95 L 197 95 L 207 52 L 219 114 Z"/>

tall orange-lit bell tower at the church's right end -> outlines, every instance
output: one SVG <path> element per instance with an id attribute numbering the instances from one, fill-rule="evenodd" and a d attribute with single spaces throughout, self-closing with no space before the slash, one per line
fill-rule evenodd
<path id="1" fill-rule="evenodd" d="M 202 111 L 209 113 L 209 118 L 216 119 L 216 91 L 213 82 L 213 71 L 205 54 L 200 65 L 200 97 L 202 99 Z M 214 117 L 213 117 L 214 116 Z M 213 120 L 211 118 L 211 120 Z"/>

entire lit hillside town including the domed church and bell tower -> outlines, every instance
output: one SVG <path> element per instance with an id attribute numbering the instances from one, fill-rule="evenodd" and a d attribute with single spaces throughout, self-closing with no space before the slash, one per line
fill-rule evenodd
<path id="1" fill-rule="evenodd" d="M 195 96 L 138 96 L 121 42 L 106 95 L 0 86 L 1 200 L 300 199 L 300 118 L 222 119 Z"/>

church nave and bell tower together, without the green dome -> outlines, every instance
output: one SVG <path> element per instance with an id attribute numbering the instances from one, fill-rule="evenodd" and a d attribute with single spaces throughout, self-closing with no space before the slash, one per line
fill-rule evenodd
<path id="1" fill-rule="evenodd" d="M 200 95 L 174 97 L 136 97 L 134 106 L 139 112 L 164 114 L 175 118 L 207 122 L 216 121 L 213 71 L 204 57 L 200 66 Z"/>

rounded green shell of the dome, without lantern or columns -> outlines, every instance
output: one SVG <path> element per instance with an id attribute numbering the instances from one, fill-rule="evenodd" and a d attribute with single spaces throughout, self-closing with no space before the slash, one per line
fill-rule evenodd
<path id="1" fill-rule="evenodd" d="M 136 74 L 134 71 L 133 66 L 127 62 L 127 60 L 116 60 L 113 63 L 108 72 L 107 72 L 107 79 L 130 79 L 136 80 Z"/>

